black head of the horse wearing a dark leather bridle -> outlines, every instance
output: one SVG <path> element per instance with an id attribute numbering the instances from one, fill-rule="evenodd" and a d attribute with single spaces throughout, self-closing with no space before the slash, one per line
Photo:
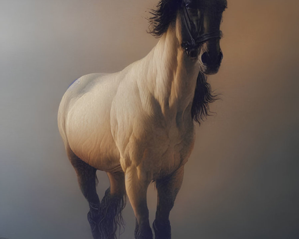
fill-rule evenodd
<path id="1" fill-rule="evenodd" d="M 178 9 L 181 46 L 190 59 L 199 61 L 204 74 L 217 73 L 223 58 L 220 23 L 226 7 L 226 0 L 182 0 Z"/>

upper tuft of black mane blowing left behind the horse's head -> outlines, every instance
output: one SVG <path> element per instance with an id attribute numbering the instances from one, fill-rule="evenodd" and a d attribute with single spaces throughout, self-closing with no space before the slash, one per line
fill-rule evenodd
<path id="1" fill-rule="evenodd" d="M 149 31 L 155 37 L 161 37 L 169 27 L 169 24 L 176 19 L 176 13 L 181 5 L 181 0 L 160 0 L 157 9 L 151 9 L 153 15 L 149 20 Z"/>

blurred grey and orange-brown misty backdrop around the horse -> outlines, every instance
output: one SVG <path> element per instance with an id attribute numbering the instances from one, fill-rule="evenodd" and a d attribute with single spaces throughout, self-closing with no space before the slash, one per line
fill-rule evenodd
<path id="1" fill-rule="evenodd" d="M 91 238 L 88 205 L 57 129 L 68 85 L 115 72 L 158 41 L 157 0 L 1 0 L 0 237 Z M 171 212 L 173 238 L 298 238 L 298 1 L 229 0 L 222 100 L 196 128 Z M 109 183 L 99 172 L 98 192 Z M 149 188 L 152 222 L 156 196 Z M 121 238 L 133 238 L 127 203 Z"/>

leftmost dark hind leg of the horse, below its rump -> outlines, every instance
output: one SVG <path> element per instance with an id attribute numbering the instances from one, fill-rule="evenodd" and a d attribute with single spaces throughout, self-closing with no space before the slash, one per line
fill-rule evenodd
<path id="1" fill-rule="evenodd" d="M 91 167 L 79 157 L 77 157 L 71 149 L 68 150 L 68 158 L 74 167 L 80 189 L 89 203 L 89 212 L 87 218 L 91 227 L 91 233 L 94 239 L 106 239 L 101 236 L 99 230 L 100 222 L 100 200 L 96 191 L 96 168 Z"/>

